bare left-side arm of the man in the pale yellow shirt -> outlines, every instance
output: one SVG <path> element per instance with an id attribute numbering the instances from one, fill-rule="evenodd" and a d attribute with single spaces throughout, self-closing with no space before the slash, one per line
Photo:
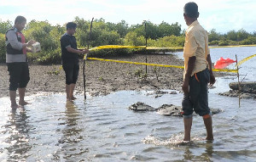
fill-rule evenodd
<path id="1" fill-rule="evenodd" d="M 186 75 L 183 81 L 183 92 L 185 95 L 189 93 L 189 78 L 192 74 L 192 71 L 195 68 L 195 56 L 189 57 L 189 62 L 188 62 L 188 69 L 186 71 Z"/>

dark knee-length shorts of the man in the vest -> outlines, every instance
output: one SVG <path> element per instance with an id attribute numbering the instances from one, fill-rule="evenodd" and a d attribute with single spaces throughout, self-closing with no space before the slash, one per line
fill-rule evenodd
<path id="1" fill-rule="evenodd" d="M 9 90 L 16 91 L 18 87 L 26 87 L 30 80 L 28 64 L 26 62 L 8 63 L 7 66 L 9 71 Z"/>

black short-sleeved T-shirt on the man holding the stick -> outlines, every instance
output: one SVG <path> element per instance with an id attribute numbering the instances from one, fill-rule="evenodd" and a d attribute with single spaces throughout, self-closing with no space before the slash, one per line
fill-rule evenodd
<path id="1" fill-rule="evenodd" d="M 77 41 L 75 36 L 68 35 L 65 33 L 61 36 L 61 59 L 62 63 L 68 63 L 73 61 L 79 61 L 78 53 L 70 53 L 67 51 L 67 47 L 72 47 L 74 49 L 78 49 Z"/>

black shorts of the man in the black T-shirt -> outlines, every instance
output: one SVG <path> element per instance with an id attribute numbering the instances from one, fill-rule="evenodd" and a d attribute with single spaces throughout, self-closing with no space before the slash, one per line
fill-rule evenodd
<path id="1" fill-rule="evenodd" d="M 62 67 L 66 74 L 66 84 L 76 84 L 79 78 L 79 62 L 63 63 Z"/>

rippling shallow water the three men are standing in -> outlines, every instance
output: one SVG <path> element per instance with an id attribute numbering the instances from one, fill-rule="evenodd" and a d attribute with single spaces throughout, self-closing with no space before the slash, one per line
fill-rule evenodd
<path id="1" fill-rule="evenodd" d="M 255 66 L 249 68 L 253 77 Z M 239 108 L 238 98 L 216 94 L 234 78 L 218 78 L 209 90 L 209 106 L 223 110 L 212 117 L 213 142 L 203 140 L 199 116 L 192 142 L 184 143 L 183 118 L 127 109 L 137 102 L 181 105 L 182 93 L 155 98 L 152 92 L 121 91 L 86 101 L 81 95 L 73 103 L 61 93 L 38 94 L 14 112 L 9 98 L 0 98 L 0 161 L 255 161 L 256 100 L 241 99 Z"/>

